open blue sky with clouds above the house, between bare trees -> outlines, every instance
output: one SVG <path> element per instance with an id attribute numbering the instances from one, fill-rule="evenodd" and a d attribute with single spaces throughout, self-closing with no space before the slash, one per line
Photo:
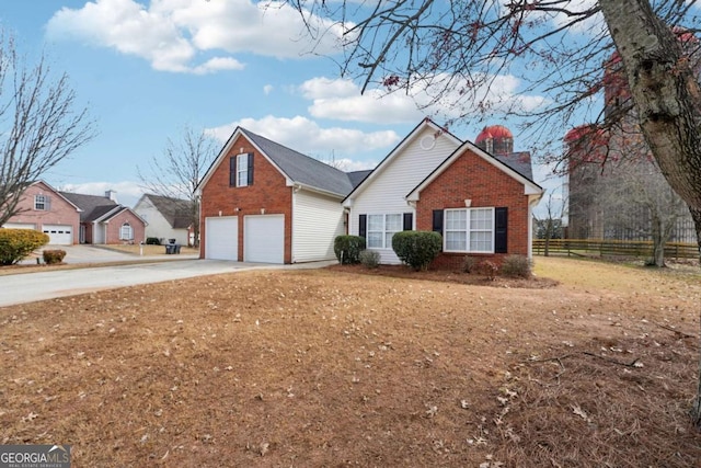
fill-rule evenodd
<path id="1" fill-rule="evenodd" d="M 5 0 L 0 24 L 30 61 L 44 52 L 54 72 L 69 76 L 96 123 L 97 136 L 46 182 L 84 194 L 115 190 L 127 206 L 141 195 L 137 168 L 148 173 L 149 161 L 185 126 L 223 142 L 241 125 L 356 170 L 375 167 L 426 115 L 402 94 L 360 95 L 356 83 L 338 78 L 333 35 L 310 54 L 300 16 L 288 8 L 264 11 L 250 0 Z M 492 92 L 516 93 L 518 79 L 497 82 Z M 514 149 L 527 149 L 508 122 L 490 124 L 512 127 Z M 451 132 L 473 140 L 484 125 Z M 535 167 L 535 174 L 543 186 L 559 184 L 547 168 Z"/>

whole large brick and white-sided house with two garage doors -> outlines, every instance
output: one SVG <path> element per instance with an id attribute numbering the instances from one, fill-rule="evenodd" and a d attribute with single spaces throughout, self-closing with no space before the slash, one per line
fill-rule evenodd
<path id="1" fill-rule="evenodd" d="M 296 263 L 332 260 L 336 236 L 367 239 L 399 263 L 391 238 L 406 229 L 444 237 L 438 266 L 466 254 L 531 255 L 532 208 L 542 189 L 530 155 L 498 157 L 423 121 L 372 171 L 344 173 L 237 128 L 198 186 L 206 259 Z"/>

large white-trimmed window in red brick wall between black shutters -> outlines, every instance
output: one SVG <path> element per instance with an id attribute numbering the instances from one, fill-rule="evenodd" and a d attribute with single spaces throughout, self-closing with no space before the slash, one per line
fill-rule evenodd
<path id="1" fill-rule="evenodd" d="M 446 252 L 494 253 L 494 208 L 446 209 Z"/>

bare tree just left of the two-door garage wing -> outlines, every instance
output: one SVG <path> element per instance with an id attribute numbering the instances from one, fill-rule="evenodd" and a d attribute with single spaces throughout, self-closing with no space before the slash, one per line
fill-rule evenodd
<path id="1" fill-rule="evenodd" d="M 185 126 L 179 139 L 165 142 L 162 157 L 149 161 L 149 172 L 137 167 L 141 189 L 172 199 L 173 209 L 185 209 L 199 246 L 199 199 L 195 189 L 217 156 L 218 144 L 205 130 Z M 183 201 L 188 203 L 183 204 Z"/>

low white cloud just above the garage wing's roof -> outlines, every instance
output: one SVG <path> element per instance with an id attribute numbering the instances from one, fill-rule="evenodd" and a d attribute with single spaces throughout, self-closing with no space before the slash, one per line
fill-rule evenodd
<path id="1" fill-rule="evenodd" d="M 401 139 L 393 130 L 365 133 L 352 128 L 322 128 L 315 122 L 301 116 L 281 118 L 268 115 L 260 119 L 243 118 L 209 128 L 207 132 L 223 142 L 237 126 L 324 161 L 334 158 L 334 155 L 344 159 L 347 155 L 368 155 L 378 150 L 387 153 Z M 368 168 L 374 167 L 375 162 L 347 161 L 347 164 L 354 168 L 360 165 Z"/>

